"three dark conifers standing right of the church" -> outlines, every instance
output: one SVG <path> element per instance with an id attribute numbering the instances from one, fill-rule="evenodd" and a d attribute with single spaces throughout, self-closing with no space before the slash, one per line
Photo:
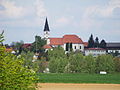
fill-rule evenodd
<path id="1" fill-rule="evenodd" d="M 101 42 L 99 43 L 99 39 L 98 37 L 96 37 L 96 39 L 94 40 L 93 35 L 91 34 L 89 40 L 88 40 L 88 47 L 89 48 L 106 48 L 106 42 L 105 40 L 101 40 Z"/>

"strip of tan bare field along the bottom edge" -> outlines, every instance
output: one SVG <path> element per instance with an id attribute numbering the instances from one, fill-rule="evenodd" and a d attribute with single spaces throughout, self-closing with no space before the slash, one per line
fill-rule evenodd
<path id="1" fill-rule="evenodd" d="M 120 84 L 40 83 L 38 90 L 120 90 Z"/>

